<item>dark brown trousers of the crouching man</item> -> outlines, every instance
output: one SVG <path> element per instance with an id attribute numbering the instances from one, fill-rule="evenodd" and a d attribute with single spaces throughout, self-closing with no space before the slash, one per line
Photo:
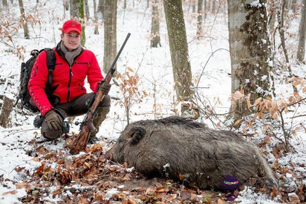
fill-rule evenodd
<path id="1" fill-rule="evenodd" d="M 61 103 L 55 106 L 55 109 L 61 112 L 63 118 L 71 116 L 79 116 L 87 113 L 88 107 L 86 106 L 86 101 L 94 97 L 94 93 L 84 94 L 74 101 L 68 103 Z M 111 104 L 111 98 L 109 95 L 105 95 L 100 106 L 109 106 Z M 46 121 L 43 120 L 41 124 L 41 134 L 47 139 L 56 139 L 62 135 L 62 130 L 50 130 Z"/>

